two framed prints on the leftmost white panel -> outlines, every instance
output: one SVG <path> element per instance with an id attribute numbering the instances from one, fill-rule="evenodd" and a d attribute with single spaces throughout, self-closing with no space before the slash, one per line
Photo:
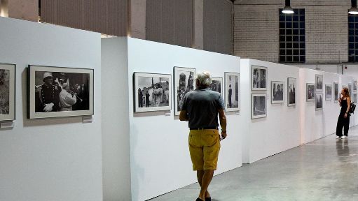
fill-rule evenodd
<path id="1" fill-rule="evenodd" d="M 28 67 L 29 119 L 93 115 L 93 69 Z M 0 121 L 15 120 L 15 64 L 0 64 Z"/>

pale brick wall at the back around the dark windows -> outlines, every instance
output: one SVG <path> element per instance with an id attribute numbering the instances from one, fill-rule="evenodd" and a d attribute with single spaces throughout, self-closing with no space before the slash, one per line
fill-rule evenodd
<path id="1" fill-rule="evenodd" d="M 284 1 L 235 1 L 234 54 L 242 58 L 279 61 L 279 8 Z M 347 10 L 350 1 L 292 1 L 305 8 L 306 63 L 346 62 Z"/>

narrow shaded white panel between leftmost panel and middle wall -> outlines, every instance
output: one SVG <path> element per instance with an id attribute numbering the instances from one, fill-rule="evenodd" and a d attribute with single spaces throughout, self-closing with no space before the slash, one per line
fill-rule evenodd
<path id="1" fill-rule="evenodd" d="M 131 200 L 127 38 L 102 38 L 103 200 Z"/>

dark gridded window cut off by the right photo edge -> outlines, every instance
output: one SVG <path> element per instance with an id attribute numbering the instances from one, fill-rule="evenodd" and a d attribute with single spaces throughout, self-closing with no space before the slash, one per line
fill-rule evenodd
<path id="1" fill-rule="evenodd" d="M 348 14 L 348 61 L 358 62 L 358 16 Z"/>

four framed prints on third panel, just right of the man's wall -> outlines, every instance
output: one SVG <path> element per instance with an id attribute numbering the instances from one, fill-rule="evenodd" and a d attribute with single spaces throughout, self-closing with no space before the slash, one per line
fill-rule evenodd
<path id="1" fill-rule="evenodd" d="M 267 117 L 268 68 L 251 66 L 252 119 Z M 287 106 L 296 105 L 296 78 L 287 78 Z M 271 104 L 284 103 L 284 81 L 271 81 Z"/>

